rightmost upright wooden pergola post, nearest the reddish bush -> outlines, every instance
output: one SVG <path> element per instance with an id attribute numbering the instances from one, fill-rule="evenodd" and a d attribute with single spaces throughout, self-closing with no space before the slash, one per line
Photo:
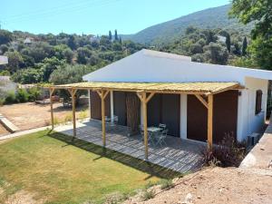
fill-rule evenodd
<path id="1" fill-rule="evenodd" d="M 213 131 L 213 95 L 208 95 L 208 148 L 212 150 L 212 131 Z"/>

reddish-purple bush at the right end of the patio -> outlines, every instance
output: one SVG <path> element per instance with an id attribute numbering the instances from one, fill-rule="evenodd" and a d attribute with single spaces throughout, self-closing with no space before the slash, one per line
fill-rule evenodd
<path id="1" fill-rule="evenodd" d="M 233 135 L 228 134 L 218 145 L 213 146 L 212 151 L 203 152 L 203 162 L 209 166 L 238 167 L 245 155 L 245 145 L 238 143 Z"/>

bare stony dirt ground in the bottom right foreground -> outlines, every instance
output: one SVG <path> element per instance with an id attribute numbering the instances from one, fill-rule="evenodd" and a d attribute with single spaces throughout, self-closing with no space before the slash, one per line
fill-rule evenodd
<path id="1" fill-rule="evenodd" d="M 141 193 L 126 204 L 208 204 L 272 203 L 272 170 L 209 168 L 175 180 L 176 186 L 162 191 L 153 187 L 156 196 L 141 201 Z"/>

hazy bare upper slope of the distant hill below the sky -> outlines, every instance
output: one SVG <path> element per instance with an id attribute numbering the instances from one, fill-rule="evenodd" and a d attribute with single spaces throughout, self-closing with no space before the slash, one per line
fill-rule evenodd
<path id="1" fill-rule="evenodd" d="M 231 5 L 222 5 L 209 8 L 190 15 L 148 27 L 137 34 L 123 35 L 122 39 L 141 44 L 161 44 L 169 43 L 171 40 L 180 37 L 189 25 L 199 28 L 225 28 L 236 29 L 241 33 L 247 34 L 252 24 L 239 24 L 237 19 L 228 19 L 228 10 Z"/>

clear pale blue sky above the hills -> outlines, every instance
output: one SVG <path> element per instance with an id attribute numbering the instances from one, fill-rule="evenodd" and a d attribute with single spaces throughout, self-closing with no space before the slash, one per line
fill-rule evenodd
<path id="1" fill-rule="evenodd" d="M 2 29 L 34 34 L 135 34 L 229 0 L 0 0 Z"/>

